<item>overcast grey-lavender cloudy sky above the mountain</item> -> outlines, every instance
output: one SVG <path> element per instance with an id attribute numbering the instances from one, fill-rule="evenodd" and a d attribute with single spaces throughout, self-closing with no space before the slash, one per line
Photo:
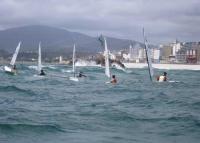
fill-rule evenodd
<path id="1" fill-rule="evenodd" d="M 200 0 L 0 0 L 0 29 L 48 25 L 150 43 L 200 41 Z"/>

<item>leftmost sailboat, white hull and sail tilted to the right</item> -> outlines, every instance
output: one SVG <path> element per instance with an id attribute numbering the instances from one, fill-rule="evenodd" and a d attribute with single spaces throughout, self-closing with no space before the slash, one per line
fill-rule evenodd
<path id="1" fill-rule="evenodd" d="M 10 66 L 4 66 L 5 72 L 10 73 L 10 74 L 17 74 L 15 62 L 16 62 L 17 55 L 18 55 L 19 50 L 20 50 L 20 46 L 21 46 L 21 42 L 19 42 L 19 44 L 18 44 L 18 46 L 15 50 L 15 53 L 13 54 L 12 60 L 10 62 Z"/>

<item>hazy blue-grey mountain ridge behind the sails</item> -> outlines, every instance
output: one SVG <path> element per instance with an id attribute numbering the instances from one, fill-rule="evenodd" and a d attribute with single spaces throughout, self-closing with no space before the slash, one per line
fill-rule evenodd
<path id="1" fill-rule="evenodd" d="M 95 53 L 102 51 L 97 37 L 70 32 L 65 29 L 49 26 L 25 26 L 0 31 L 0 50 L 13 53 L 18 42 L 22 41 L 21 51 L 35 52 L 38 43 L 42 43 L 42 50 L 57 54 L 72 52 L 73 44 L 77 51 L 82 53 Z M 141 44 L 132 40 L 107 37 L 110 50 L 128 48 L 130 43 Z"/>

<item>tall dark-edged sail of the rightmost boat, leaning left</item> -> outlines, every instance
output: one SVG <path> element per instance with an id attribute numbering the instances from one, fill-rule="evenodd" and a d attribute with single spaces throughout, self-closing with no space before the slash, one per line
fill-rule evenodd
<path id="1" fill-rule="evenodd" d="M 147 59 L 147 63 L 148 63 L 148 69 L 149 69 L 149 77 L 150 80 L 153 81 L 153 67 L 152 67 L 152 61 L 151 61 L 151 55 L 150 55 L 150 51 L 149 51 L 149 46 L 148 46 L 148 42 L 145 36 L 145 32 L 143 29 L 143 36 L 144 36 L 144 44 L 145 44 L 145 51 L 146 51 L 146 59 Z"/>

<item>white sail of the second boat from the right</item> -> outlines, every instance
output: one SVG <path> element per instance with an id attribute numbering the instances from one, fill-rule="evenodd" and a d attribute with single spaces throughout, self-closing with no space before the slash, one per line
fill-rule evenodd
<path id="1" fill-rule="evenodd" d="M 110 65 L 109 65 L 109 51 L 108 51 L 108 46 L 106 42 L 106 38 L 104 38 L 104 55 L 105 55 L 105 74 L 107 77 L 110 78 Z"/>

